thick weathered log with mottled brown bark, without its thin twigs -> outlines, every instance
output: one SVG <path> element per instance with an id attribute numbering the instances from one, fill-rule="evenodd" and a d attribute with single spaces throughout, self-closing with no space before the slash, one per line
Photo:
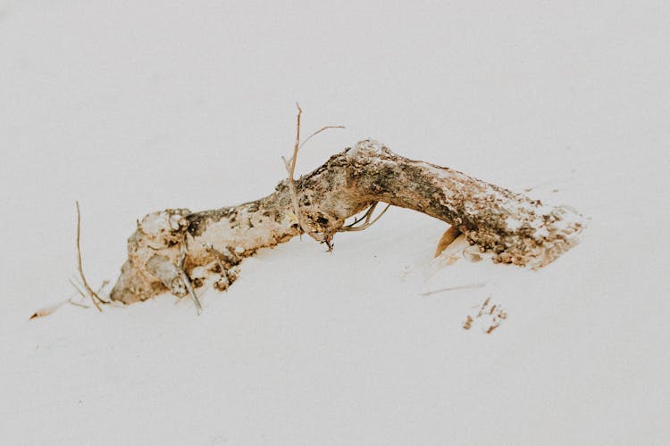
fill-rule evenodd
<path id="1" fill-rule="evenodd" d="M 374 202 L 423 212 L 495 252 L 494 261 L 540 268 L 578 243 L 582 219 L 453 169 L 413 161 L 372 140 L 331 156 L 296 180 L 299 219 L 310 235 L 331 244 L 345 220 Z M 240 261 L 303 232 L 289 183 L 255 202 L 214 211 L 172 209 L 138 221 L 128 260 L 111 298 L 131 303 L 170 291 L 176 296 L 213 280 L 225 290 Z M 185 257 L 183 257 L 185 256 Z M 179 268 L 183 265 L 182 270 Z"/>

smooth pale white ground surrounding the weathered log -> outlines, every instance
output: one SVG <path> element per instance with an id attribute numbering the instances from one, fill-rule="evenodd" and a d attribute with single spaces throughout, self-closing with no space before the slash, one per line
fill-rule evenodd
<path id="1" fill-rule="evenodd" d="M 113 6 L 111 5 L 113 4 Z M 666 444 L 670 7 L 584 2 L 0 1 L 0 443 Z M 293 240 L 204 314 L 65 306 L 135 219 L 255 199 L 294 132 L 344 124 L 590 217 L 539 272 L 431 266 L 391 209 Z M 421 293 L 460 285 L 484 286 Z M 464 330 L 487 296 L 508 318 Z"/>

